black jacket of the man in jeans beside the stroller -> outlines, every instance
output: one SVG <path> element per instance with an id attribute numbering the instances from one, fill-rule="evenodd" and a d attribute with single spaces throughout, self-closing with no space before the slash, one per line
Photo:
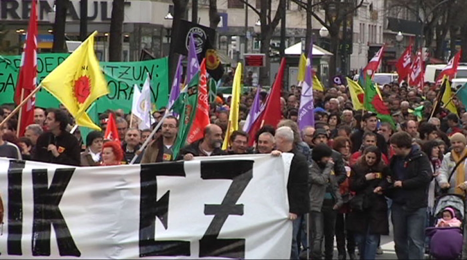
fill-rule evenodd
<path id="1" fill-rule="evenodd" d="M 398 156 L 393 156 L 389 167 L 391 169 L 391 183 L 386 181 L 386 187 L 392 186 L 398 179 L 395 175 L 395 160 Z M 433 172 L 431 162 L 428 156 L 420 149 L 412 149 L 405 158 L 404 167 L 406 168 L 405 180 L 402 181 L 402 187 L 390 188 L 385 195 L 396 199 L 403 196 L 405 206 L 408 210 L 418 210 L 428 206 L 428 186 L 430 184 Z M 383 187 L 384 188 L 384 187 Z M 393 201 L 395 203 L 395 201 Z"/>

